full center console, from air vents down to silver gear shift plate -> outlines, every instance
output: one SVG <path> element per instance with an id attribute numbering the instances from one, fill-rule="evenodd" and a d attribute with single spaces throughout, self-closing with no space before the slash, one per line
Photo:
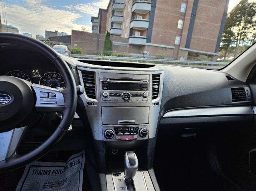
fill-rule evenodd
<path id="1" fill-rule="evenodd" d="M 80 98 L 93 136 L 98 172 L 105 174 L 108 190 L 119 190 L 119 185 L 125 185 L 120 181 L 125 179 L 124 154 L 129 150 L 141 161 L 133 178 L 134 187 L 147 190 L 153 187 L 154 179 L 156 188 L 152 166 L 164 80 L 162 68 L 78 66 L 78 74 L 84 87 Z"/>

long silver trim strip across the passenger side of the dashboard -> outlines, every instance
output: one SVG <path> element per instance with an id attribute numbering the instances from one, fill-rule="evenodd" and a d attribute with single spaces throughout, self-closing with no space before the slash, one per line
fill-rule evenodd
<path id="1" fill-rule="evenodd" d="M 166 112 L 162 118 L 251 114 L 254 114 L 254 111 L 251 106 L 226 106 L 172 110 Z"/>

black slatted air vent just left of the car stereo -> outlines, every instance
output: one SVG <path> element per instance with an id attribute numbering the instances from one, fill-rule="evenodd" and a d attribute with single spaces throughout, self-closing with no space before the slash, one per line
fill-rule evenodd
<path id="1" fill-rule="evenodd" d="M 95 99 L 95 72 L 82 71 L 85 93 L 89 98 Z"/>

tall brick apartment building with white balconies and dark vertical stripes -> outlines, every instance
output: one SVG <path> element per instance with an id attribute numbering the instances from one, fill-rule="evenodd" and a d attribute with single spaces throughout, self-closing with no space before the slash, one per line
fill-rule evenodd
<path id="1" fill-rule="evenodd" d="M 218 55 L 228 3 L 229 0 L 110 0 L 107 9 L 100 9 L 98 17 L 92 18 L 92 30 L 99 34 L 109 31 L 128 39 L 130 53 L 148 52 L 173 59 L 214 57 Z"/>

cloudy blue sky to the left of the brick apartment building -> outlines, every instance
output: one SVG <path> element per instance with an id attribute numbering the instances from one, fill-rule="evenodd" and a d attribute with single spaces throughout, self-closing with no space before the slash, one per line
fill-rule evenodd
<path id="1" fill-rule="evenodd" d="M 3 2 L 3 0 L 2 0 Z M 17 27 L 20 33 L 45 35 L 45 30 L 91 32 L 91 16 L 99 8 L 107 8 L 109 0 L 4 0 L 7 24 Z M 3 3 L 2 3 L 3 5 Z M 2 9 L 1 9 L 2 11 Z M 1 21 L 4 18 L 1 13 Z"/>

